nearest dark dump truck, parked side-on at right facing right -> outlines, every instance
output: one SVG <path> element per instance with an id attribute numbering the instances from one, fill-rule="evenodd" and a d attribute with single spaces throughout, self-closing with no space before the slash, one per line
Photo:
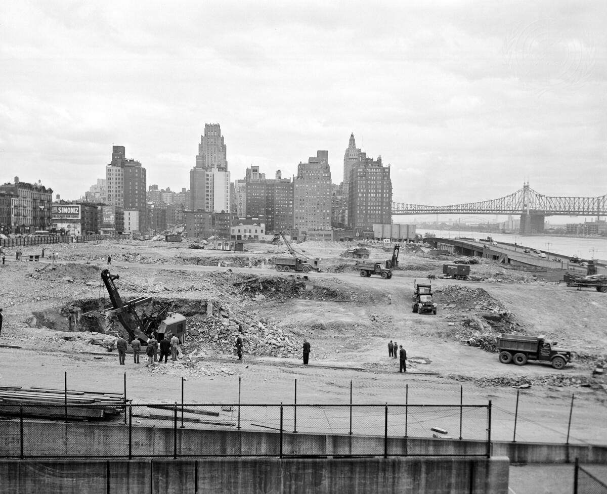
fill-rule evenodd
<path id="1" fill-rule="evenodd" d="M 538 360 L 551 364 L 555 369 L 562 369 L 571 362 L 575 353 L 565 348 L 558 348 L 557 342 L 546 341 L 546 336 L 522 336 L 520 334 L 500 334 L 496 338 L 502 364 L 525 365 L 529 360 Z"/>

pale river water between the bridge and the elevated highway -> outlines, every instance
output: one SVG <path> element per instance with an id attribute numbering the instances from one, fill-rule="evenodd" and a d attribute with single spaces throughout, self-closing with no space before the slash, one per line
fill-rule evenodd
<path id="1" fill-rule="evenodd" d="M 416 229 L 421 235 L 427 233 L 435 234 L 436 237 L 454 239 L 455 237 L 467 237 L 469 239 L 486 239 L 487 235 L 496 242 L 517 243 L 523 247 L 551 252 L 555 255 L 566 255 L 568 257 L 577 255 L 582 259 L 607 260 L 607 239 L 603 237 L 559 237 L 552 235 L 518 235 L 485 232 L 473 232 L 470 230 L 439 230 L 439 229 Z"/>

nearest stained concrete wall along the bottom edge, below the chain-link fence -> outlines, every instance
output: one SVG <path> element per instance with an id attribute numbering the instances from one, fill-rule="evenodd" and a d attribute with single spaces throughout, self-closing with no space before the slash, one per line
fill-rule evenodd
<path id="1" fill-rule="evenodd" d="M 0 494 L 507 494 L 507 458 L 4 460 Z"/>

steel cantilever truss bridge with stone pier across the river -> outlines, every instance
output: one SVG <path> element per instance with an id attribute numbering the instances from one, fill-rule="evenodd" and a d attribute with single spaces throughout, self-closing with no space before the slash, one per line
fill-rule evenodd
<path id="1" fill-rule="evenodd" d="M 393 215 L 405 214 L 517 214 L 521 234 L 542 233 L 546 216 L 607 216 L 607 194 L 599 197 L 557 197 L 543 195 L 529 183 L 513 194 L 450 206 L 392 203 Z"/>

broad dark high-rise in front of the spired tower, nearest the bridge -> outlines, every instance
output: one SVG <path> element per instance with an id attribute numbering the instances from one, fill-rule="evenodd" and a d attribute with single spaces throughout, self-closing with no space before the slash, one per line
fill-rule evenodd
<path id="1" fill-rule="evenodd" d="M 355 235 L 373 230 L 373 223 L 392 223 L 392 180 L 390 167 L 361 152 L 350 171 L 348 226 Z"/>

